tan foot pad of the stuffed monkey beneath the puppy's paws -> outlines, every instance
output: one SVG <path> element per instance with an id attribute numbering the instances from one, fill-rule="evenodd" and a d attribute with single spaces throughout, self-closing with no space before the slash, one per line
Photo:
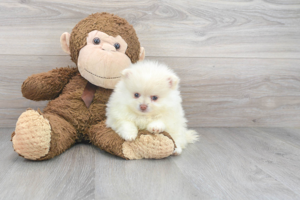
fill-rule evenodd
<path id="1" fill-rule="evenodd" d="M 139 134 L 133 142 L 122 144 L 124 156 L 130 160 L 141 158 L 165 158 L 171 155 L 176 147 L 171 136 L 159 134 Z"/>

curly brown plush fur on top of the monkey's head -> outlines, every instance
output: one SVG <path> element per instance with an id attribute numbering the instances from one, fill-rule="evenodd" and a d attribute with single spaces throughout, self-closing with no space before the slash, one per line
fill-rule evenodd
<path id="1" fill-rule="evenodd" d="M 86 45 L 88 33 L 98 30 L 111 36 L 120 35 L 128 44 L 126 55 L 132 63 L 139 60 L 140 42 L 131 24 L 110 13 L 95 13 L 81 20 L 72 30 L 70 41 L 71 59 L 77 64 L 79 51 Z"/>

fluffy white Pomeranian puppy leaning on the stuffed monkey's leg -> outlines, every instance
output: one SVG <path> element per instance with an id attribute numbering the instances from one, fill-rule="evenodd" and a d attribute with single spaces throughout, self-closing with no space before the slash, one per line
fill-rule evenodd
<path id="1" fill-rule="evenodd" d="M 138 129 L 169 133 L 179 155 L 187 143 L 197 140 L 188 130 L 178 90 L 179 78 L 165 64 L 143 61 L 121 72 L 121 80 L 110 96 L 106 124 L 123 139 L 136 139 Z"/>

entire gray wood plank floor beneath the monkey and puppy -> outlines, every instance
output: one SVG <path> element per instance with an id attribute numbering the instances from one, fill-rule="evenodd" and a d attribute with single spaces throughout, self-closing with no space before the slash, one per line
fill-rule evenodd
<path id="1" fill-rule="evenodd" d="M 51 160 L 0 129 L 0 199 L 300 199 L 299 128 L 197 128 L 182 155 L 132 160 L 77 144 Z"/>

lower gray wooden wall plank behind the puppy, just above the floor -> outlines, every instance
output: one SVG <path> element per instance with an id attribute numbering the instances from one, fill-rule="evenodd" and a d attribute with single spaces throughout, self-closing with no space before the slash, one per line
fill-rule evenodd
<path id="1" fill-rule="evenodd" d="M 149 59 L 149 58 L 147 58 Z M 191 127 L 299 127 L 300 59 L 162 58 L 181 78 Z M 0 55 L 0 122 L 14 127 L 28 107 L 21 94 L 31 74 L 74 66 L 69 56 Z"/>

